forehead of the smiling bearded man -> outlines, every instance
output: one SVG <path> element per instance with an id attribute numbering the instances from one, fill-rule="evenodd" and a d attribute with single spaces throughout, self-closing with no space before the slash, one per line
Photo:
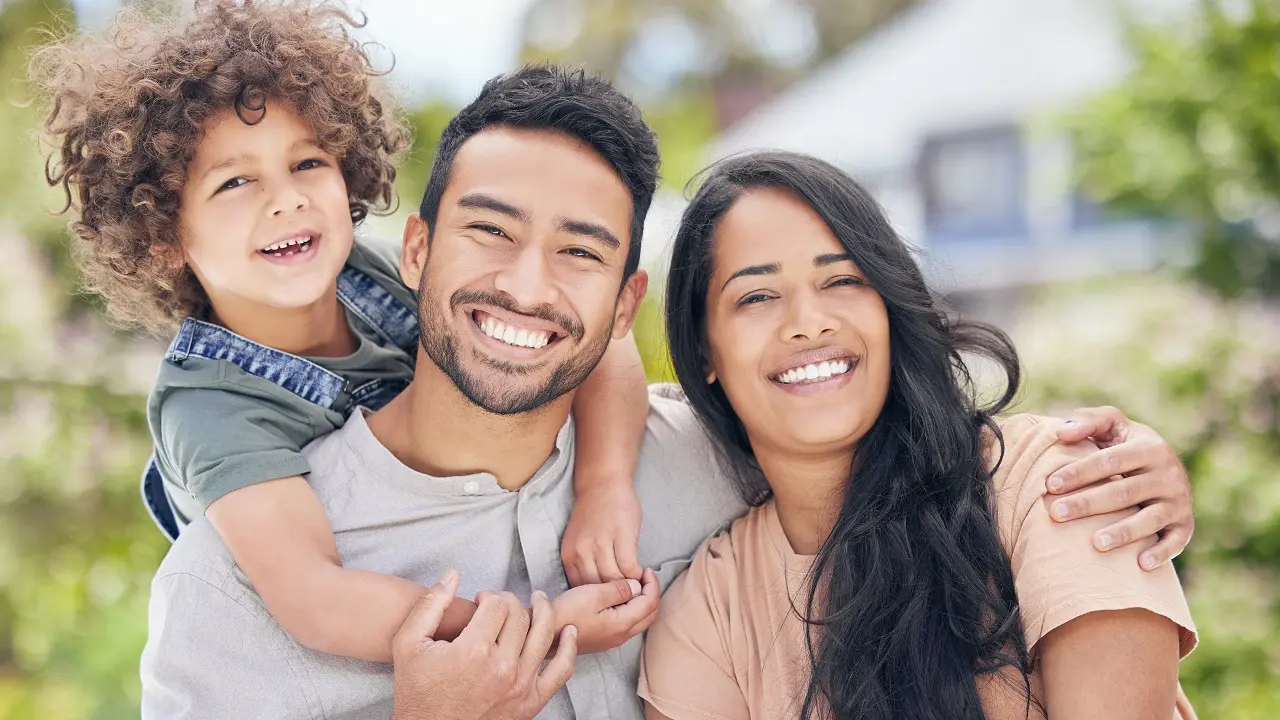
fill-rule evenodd
<path id="1" fill-rule="evenodd" d="M 631 192 L 585 142 L 552 131 L 499 127 L 458 149 L 442 206 L 470 192 L 493 195 L 539 219 L 571 218 L 628 237 Z"/>

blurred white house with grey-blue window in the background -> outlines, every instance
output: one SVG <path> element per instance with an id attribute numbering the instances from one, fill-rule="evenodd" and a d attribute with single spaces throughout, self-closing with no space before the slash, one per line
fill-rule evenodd
<path id="1" fill-rule="evenodd" d="M 1062 113 L 1130 67 L 1117 8 L 924 1 L 730 127 L 709 159 L 785 149 L 836 163 L 961 301 L 1176 261 L 1179 228 L 1106 218 L 1071 184 Z"/>

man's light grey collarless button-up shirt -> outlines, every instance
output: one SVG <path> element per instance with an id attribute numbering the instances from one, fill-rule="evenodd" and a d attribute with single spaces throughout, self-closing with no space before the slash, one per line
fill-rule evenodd
<path id="1" fill-rule="evenodd" d="M 667 588 L 708 536 L 746 507 L 678 389 L 650 388 L 636 493 L 640 562 Z M 484 442 L 484 438 L 476 438 Z M 462 575 L 458 594 L 568 589 L 561 538 L 573 502 L 572 420 L 556 451 L 517 492 L 493 475 L 434 478 L 402 465 L 361 413 L 303 450 L 343 564 L 434 583 Z M 388 717 L 392 666 L 307 650 L 271 619 L 206 519 L 187 528 L 151 587 L 142 652 L 145 719 Z M 543 719 L 643 717 L 635 694 L 640 638 L 580 656 Z"/>

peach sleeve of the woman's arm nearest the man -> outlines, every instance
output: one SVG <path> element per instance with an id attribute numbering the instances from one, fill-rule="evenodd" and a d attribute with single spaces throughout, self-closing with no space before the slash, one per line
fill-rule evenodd
<path id="1" fill-rule="evenodd" d="M 719 546 L 714 555 L 712 543 Z M 749 716 L 726 634 L 726 598 L 733 582 L 732 550 L 727 537 L 718 536 L 698 550 L 689 570 L 662 596 L 640 659 L 637 694 L 667 717 Z"/>

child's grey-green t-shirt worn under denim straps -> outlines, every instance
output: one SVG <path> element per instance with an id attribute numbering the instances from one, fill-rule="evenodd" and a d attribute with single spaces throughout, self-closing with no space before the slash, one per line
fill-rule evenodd
<path id="1" fill-rule="evenodd" d="M 389 243 L 357 241 L 347 265 L 417 311 L 417 296 L 401 282 Z M 160 363 L 147 401 L 147 424 L 179 528 L 232 491 L 310 473 L 302 446 L 342 427 L 353 405 L 351 388 L 412 378 L 412 355 L 358 313 L 347 307 L 346 314 L 358 342 L 356 351 L 346 357 L 305 357 L 346 380 L 329 407 L 246 373 L 230 360 L 188 356 Z"/>

